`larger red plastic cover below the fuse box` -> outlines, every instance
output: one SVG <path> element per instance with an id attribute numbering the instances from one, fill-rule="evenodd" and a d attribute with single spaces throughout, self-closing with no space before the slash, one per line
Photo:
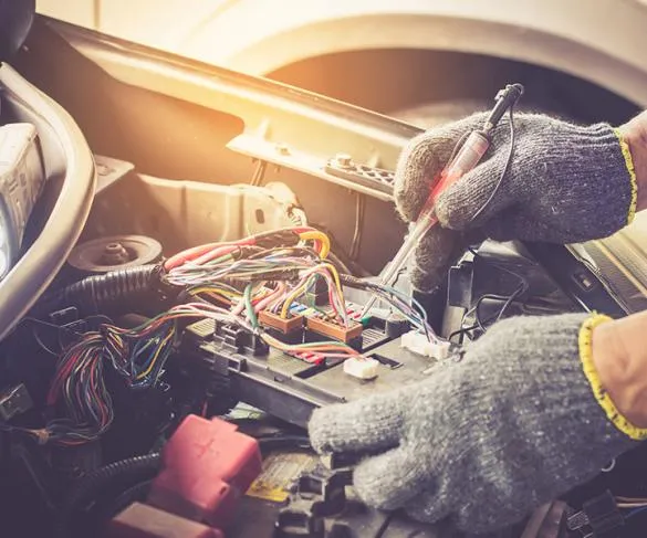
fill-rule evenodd
<path id="1" fill-rule="evenodd" d="M 164 446 L 147 503 L 211 527 L 226 527 L 261 472 L 258 441 L 220 419 L 187 416 Z"/>

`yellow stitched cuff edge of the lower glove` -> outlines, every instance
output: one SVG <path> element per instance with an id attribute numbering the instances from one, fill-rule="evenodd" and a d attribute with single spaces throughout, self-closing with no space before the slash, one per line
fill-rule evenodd
<path id="1" fill-rule="evenodd" d="M 582 360 L 582 369 L 584 370 L 586 379 L 591 383 L 593 395 L 606 413 L 607 419 L 628 437 L 635 441 L 643 441 L 647 439 L 647 429 L 635 426 L 623 414 L 620 414 L 618 408 L 616 408 L 616 404 L 603 387 L 593 362 L 593 329 L 606 321 L 611 321 L 608 316 L 594 314 L 582 324 L 582 328 L 580 329 L 580 359 Z"/>

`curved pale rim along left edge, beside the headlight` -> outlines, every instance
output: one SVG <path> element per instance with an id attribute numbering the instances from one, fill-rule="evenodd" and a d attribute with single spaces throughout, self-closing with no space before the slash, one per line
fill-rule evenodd
<path id="1" fill-rule="evenodd" d="M 74 119 L 6 62 L 27 38 L 34 9 L 34 0 L 0 0 L 0 88 L 18 119 L 36 127 L 48 176 L 61 187 L 39 236 L 0 282 L 0 340 L 65 263 L 83 231 L 96 186 L 94 159 Z"/>

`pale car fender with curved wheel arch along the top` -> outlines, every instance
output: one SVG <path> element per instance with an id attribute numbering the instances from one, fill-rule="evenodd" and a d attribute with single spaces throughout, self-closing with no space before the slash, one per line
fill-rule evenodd
<path id="1" fill-rule="evenodd" d="M 170 0 L 159 6 L 39 1 L 43 13 L 250 74 L 334 52 L 457 51 L 547 66 L 647 105 L 647 7 L 637 0 Z"/>

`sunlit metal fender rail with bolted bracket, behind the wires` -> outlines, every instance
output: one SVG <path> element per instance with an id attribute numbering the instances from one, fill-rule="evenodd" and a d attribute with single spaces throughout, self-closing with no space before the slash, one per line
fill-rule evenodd
<path id="1" fill-rule="evenodd" d="M 228 143 L 229 149 L 380 200 L 392 200 L 390 192 L 327 173 L 326 162 L 343 152 L 357 162 L 393 170 L 404 145 L 420 133 L 411 125 L 306 91 L 181 59 L 174 62 L 150 49 L 129 45 L 124 54 L 126 43 L 113 38 L 53 20 L 48 24 L 119 82 L 190 98 L 241 118 L 243 131 Z"/>

